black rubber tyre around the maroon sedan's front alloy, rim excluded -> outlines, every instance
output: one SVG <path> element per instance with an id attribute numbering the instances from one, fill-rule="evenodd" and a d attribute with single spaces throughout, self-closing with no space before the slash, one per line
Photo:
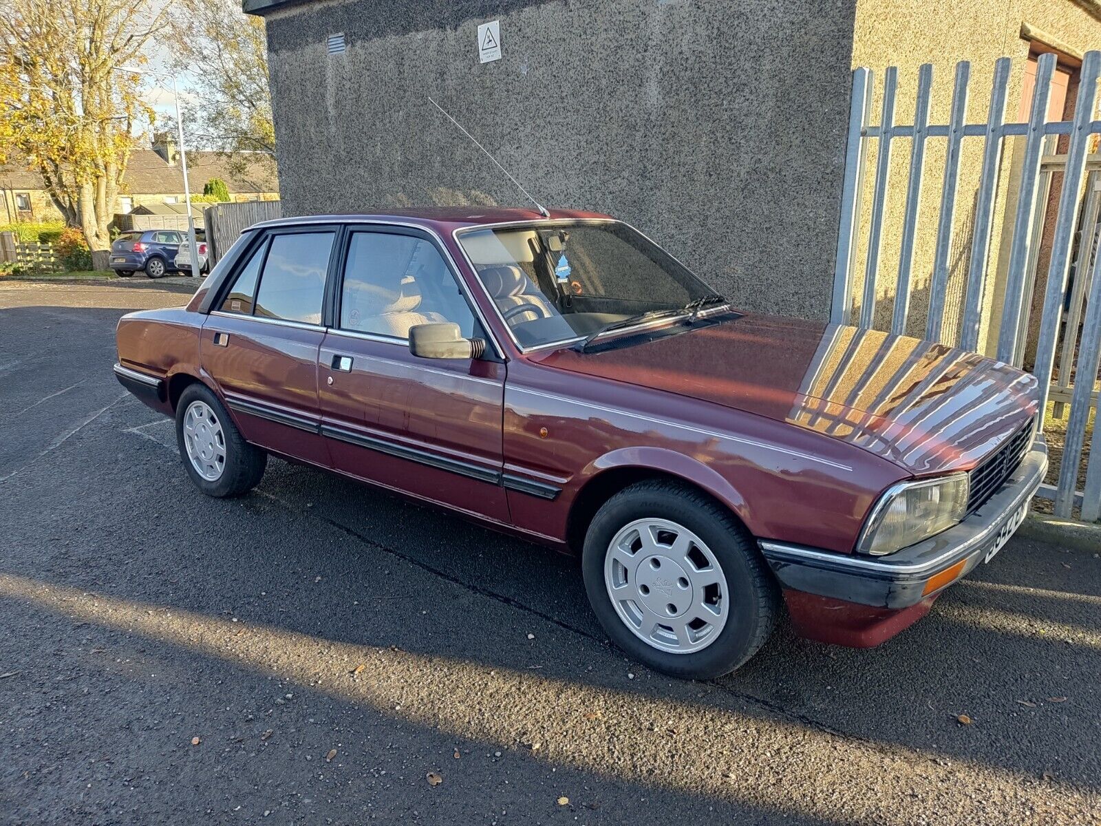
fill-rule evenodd
<path id="1" fill-rule="evenodd" d="M 683 525 L 707 544 L 722 568 L 729 613 L 706 648 L 690 653 L 654 648 L 617 613 L 604 584 L 604 559 L 615 534 L 640 519 Z M 581 567 L 589 604 L 611 640 L 633 659 L 676 677 L 710 680 L 739 667 L 765 643 L 780 613 L 776 580 L 745 528 L 710 497 L 676 482 L 639 482 L 604 502 L 586 533 Z"/>

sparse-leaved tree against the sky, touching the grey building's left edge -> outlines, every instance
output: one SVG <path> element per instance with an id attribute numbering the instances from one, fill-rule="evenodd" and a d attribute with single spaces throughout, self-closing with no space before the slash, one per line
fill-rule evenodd
<path id="1" fill-rule="evenodd" d="M 263 20 L 242 12 L 240 0 L 178 0 L 172 24 L 176 68 L 188 73 L 195 93 L 192 140 L 232 153 L 231 167 L 272 163 L 275 129 Z"/>

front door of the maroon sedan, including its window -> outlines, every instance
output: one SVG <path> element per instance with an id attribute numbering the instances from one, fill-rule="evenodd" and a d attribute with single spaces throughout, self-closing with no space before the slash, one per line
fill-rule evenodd
<path id="1" fill-rule="evenodd" d="M 454 322 L 465 336 L 486 336 L 451 264 L 412 227 L 349 227 L 342 247 L 318 360 L 333 467 L 506 522 L 504 362 L 423 359 L 408 349 L 416 324 Z"/>

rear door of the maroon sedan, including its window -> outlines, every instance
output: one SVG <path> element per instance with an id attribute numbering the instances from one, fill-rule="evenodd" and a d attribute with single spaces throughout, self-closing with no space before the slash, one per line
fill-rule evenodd
<path id="1" fill-rule="evenodd" d="M 203 325 L 203 369 L 249 442 L 328 466 L 318 433 L 317 355 L 335 226 L 258 233 Z"/>

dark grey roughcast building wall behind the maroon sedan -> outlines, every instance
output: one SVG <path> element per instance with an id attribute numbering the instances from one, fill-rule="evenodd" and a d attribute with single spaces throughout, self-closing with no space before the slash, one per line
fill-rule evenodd
<path id="1" fill-rule="evenodd" d="M 268 12 L 284 214 L 522 197 L 622 218 L 741 306 L 825 318 L 855 0 L 324 0 Z M 503 58 L 479 64 L 477 25 Z M 328 55 L 344 32 L 348 48 Z"/>

